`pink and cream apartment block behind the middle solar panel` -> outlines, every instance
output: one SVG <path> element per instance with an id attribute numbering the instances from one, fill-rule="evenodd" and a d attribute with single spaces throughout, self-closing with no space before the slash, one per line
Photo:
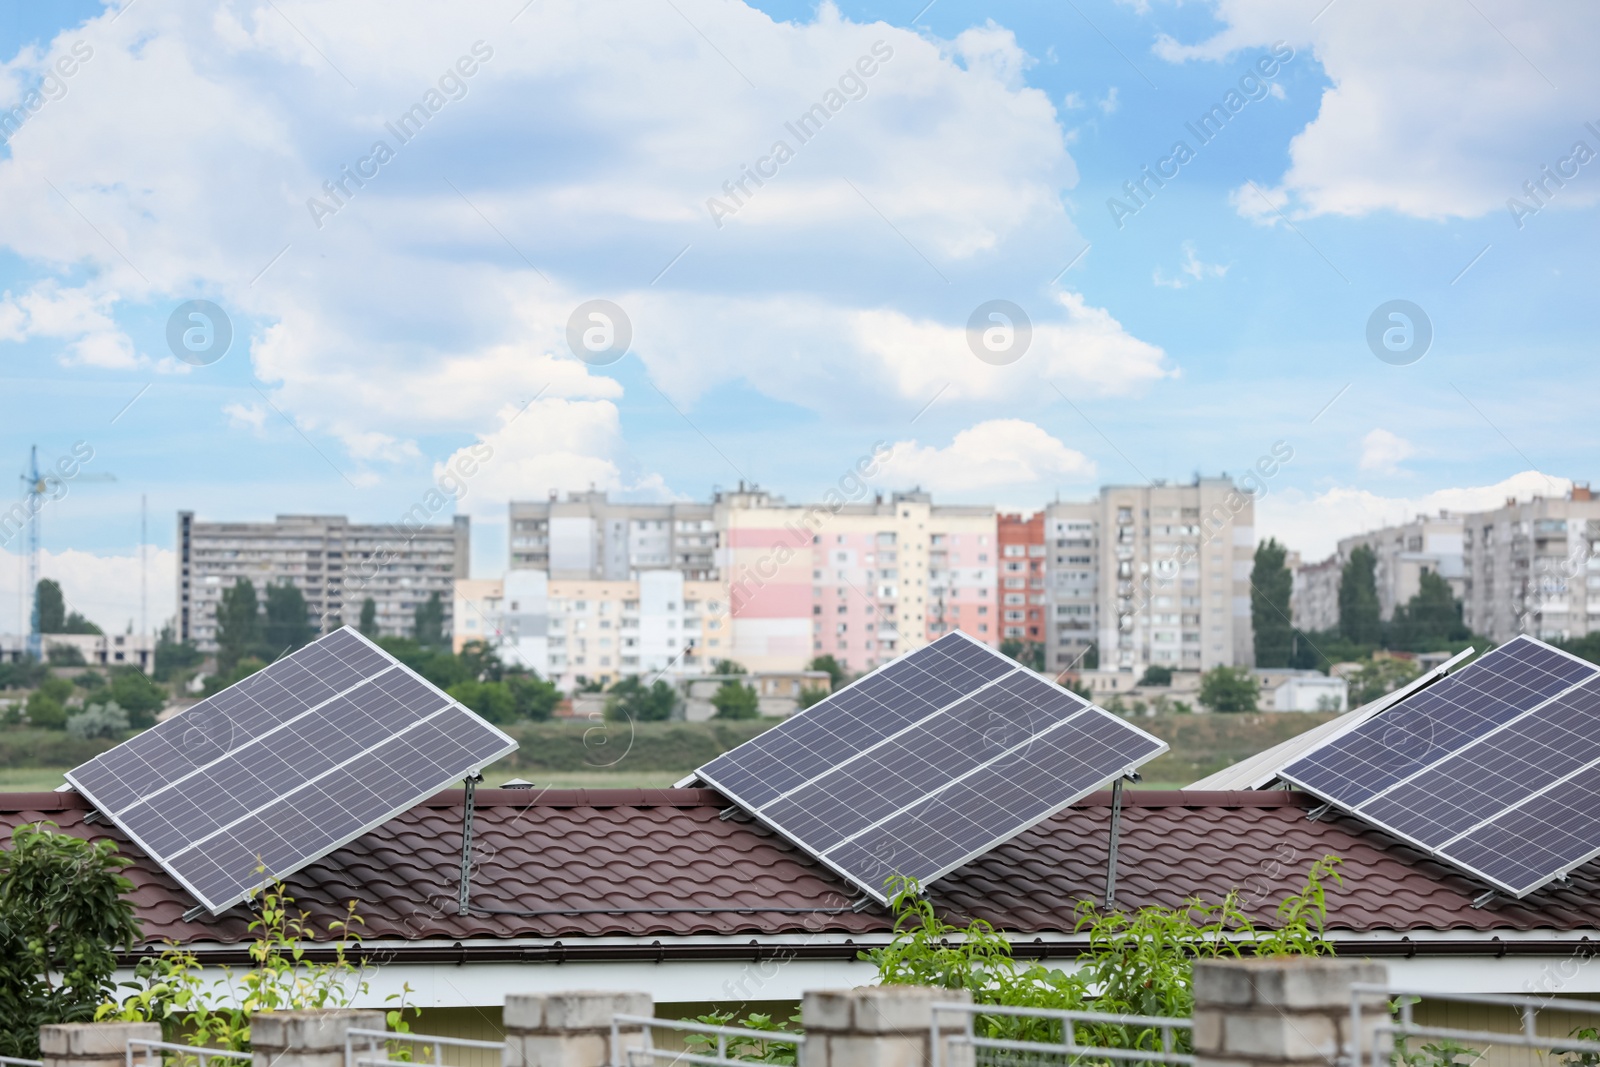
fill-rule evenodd
<path id="1" fill-rule="evenodd" d="M 715 499 L 731 657 L 792 670 L 830 654 L 872 670 L 952 629 L 998 643 L 995 514 L 926 493 L 789 504 L 741 486 Z"/>

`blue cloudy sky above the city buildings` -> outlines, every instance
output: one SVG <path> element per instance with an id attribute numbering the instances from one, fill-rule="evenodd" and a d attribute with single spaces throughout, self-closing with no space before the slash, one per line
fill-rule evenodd
<path id="1" fill-rule="evenodd" d="M 90 456 L 45 573 L 157 625 L 178 510 L 462 453 L 478 576 L 512 498 L 882 446 L 1035 510 L 1282 443 L 1306 558 L 1590 477 L 1600 8 L 925 3 L 0 0 L 0 458 Z"/>

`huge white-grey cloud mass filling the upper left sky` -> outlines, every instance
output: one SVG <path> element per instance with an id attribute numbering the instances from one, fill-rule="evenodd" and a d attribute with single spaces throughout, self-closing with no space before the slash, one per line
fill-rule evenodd
<path id="1" fill-rule="evenodd" d="M 898 310 L 886 282 L 923 270 L 918 254 L 957 274 L 1043 234 L 1080 243 L 1061 203 L 1077 170 L 1048 94 L 1022 82 L 1032 59 L 1011 30 L 941 42 L 829 3 L 784 22 L 744 3 L 678 6 L 557 2 L 512 26 L 422 0 L 102 14 L 0 78 L 8 99 L 72 42 L 93 46 L 0 160 L 0 245 L 83 278 L 67 358 L 98 366 L 144 358 L 118 341 L 115 315 L 210 293 L 235 315 L 229 358 L 248 357 L 274 405 L 358 466 L 414 461 L 422 434 L 494 432 L 507 400 L 541 390 L 616 400 L 613 379 L 566 354 L 566 318 L 595 296 L 629 307 L 634 350 L 675 397 L 738 378 L 827 413 L 862 378 L 909 397 L 926 384 L 909 366 L 914 336 L 944 347 L 952 398 L 1014 395 L 960 362 L 962 323 Z M 493 54 L 466 96 L 398 144 L 384 123 L 477 40 Z M 872 56 L 874 75 L 853 74 Z M 830 99 L 840 109 L 814 136 L 789 133 Z M 341 168 L 376 138 L 395 158 L 357 189 Z M 795 158 L 718 229 L 707 200 L 776 139 Z M 456 150 L 478 142 L 498 146 L 491 165 Z M 331 203 L 330 179 L 346 181 L 347 203 L 318 229 L 307 200 Z M 685 245 L 672 274 L 627 298 Z M 717 254 L 762 264 L 734 267 L 752 280 L 734 299 L 718 282 L 694 288 Z M 803 314 L 805 330 L 784 336 L 765 307 Z M 40 333 L 40 315 L 22 298 L 0 302 L 0 336 Z M 1170 373 L 1160 349 L 1082 298 L 1038 307 L 1034 325 L 1029 362 L 1085 389 L 1122 394 Z M 797 378 L 805 387 L 789 389 Z"/>

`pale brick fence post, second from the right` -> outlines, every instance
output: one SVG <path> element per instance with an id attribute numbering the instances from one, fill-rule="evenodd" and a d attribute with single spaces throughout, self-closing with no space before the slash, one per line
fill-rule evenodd
<path id="1" fill-rule="evenodd" d="M 819 990 L 800 1001 L 805 1045 L 800 1067 L 923 1067 L 933 1061 L 930 1040 L 938 1040 L 939 1067 L 971 1067 L 966 1045 L 949 1045 L 946 1035 L 965 1033 L 966 1021 L 949 1014 L 933 1037 L 933 1005 L 970 1005 L 965 989 L 931 985 L 862 985 Z"/>

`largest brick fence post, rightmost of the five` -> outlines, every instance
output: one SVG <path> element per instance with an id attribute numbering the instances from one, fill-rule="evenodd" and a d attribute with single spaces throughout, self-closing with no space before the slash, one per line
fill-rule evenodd
<path id="1" fill-rule="evenodd" d="M 1386 985 L 1389 968 L 1366 960 L 1275 957 L 1195 961 L 1195 1067 L 1317 1067 L 1387 1059 L 1382 993 L 1363 993 L 1362 1033 L 1350 1032 L 1352 985 Z"/>

